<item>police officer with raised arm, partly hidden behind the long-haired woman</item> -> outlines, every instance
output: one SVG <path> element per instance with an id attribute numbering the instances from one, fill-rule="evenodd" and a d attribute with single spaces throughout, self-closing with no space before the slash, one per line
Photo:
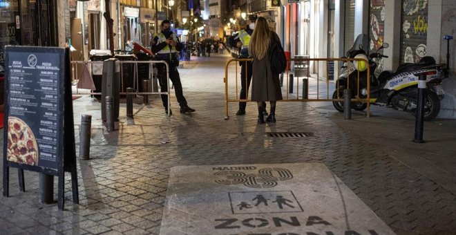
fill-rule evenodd
<path id="1" fill-rule="evenodd" d="M 243 28 L 233 36 L 229 37 L 229 45 L 231 47 L 240 48 L 240 58 L 249 58 L 249 41 L 251 34 L 254 33 L 256 15 L 249 15 L 249 21 L 241 19 L 239 21 L 240 28 Z M 247 25 L 247 26 L 246 26 Z M 246 81 L 247 76 L 247 81 Z M 247 82 L 247 84 L 246 84 Z M 249 92 L 251 82 L 251 62 L 240 62 L 240 100 L 245 100 Z M 236 115 L 245 115 L 245 102 L 239 102 L 239 110 Z M 263 107 L 266 110 L 266 103 L 263 102 Z M 267 115 L 267 113 L 265 113 Z"/>

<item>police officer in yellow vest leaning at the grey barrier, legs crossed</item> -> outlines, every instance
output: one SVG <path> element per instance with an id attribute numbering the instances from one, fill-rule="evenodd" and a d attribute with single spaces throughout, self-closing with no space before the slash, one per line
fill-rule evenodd
<path id="1" fill-rule="evenodd" d="M 195 109 L 191 109 L 187 105 L 184 94 L 182 93 L 182 84 L 177 66 L 179 65 L 179 54 L 183 46 L 180 44 L 178 37 L 171 31 L 169 20 L 162 21 L 162 32 L 155 35 L 151 41 L 152 52 L 155 53 L 156 59 L 164 60 L 169 65 L 169 79 L 173 82 L 175 97 L 178 99 L 180 113 L 193 113 Z M 160 75 L 160 87 L 162 92 L 168 91 L 167 68 L 164 64 L 157 64 L 158 75 Z M 168 99 L 167 95 L 161 95 L 165 113 L 168 114 Z M 169 114 L 172 112 L 169 110 Z"/>

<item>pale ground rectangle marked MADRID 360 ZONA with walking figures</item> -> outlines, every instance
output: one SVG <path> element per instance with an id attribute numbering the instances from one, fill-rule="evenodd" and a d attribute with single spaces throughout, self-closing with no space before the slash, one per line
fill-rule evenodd
<path id="1" fill-rule="evenodd" d="M 172 167 L 160 234 L 394 234 L 324 164 Z"/>

